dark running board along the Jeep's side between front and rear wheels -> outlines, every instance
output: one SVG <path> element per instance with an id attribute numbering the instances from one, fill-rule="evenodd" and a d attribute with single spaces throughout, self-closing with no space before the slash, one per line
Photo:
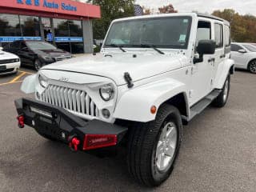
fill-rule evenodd
<path id="1" fill-rule="evenodd" d="M 222 90 L 213 90 L 210 94 L 208 94 L 205 98 L 202 98 L 200 102 L 196 103 L 194 106 L 190 108 L 190 118 L 182 116 L 182 119 L 186 122 L 190 122 L 192 118 L 196 115 L 200 114 L 203 110 L 206 109 L 207 106 L 210 105 L 211 102 L 214 101 L 215 98 L 218 97 Z"/>

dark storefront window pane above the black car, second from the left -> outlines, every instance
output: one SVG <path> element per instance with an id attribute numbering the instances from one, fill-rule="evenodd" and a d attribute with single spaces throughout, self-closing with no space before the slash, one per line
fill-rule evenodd
<path id="1" fill-rule="evenodd" d="M 38 17 L 20 16 L 22 35 L 24 37 L 40 37 L 40 25 Z"/>

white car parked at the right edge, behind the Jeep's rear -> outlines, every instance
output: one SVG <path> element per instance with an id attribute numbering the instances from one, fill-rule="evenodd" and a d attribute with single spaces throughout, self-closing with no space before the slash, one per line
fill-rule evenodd
<path id="1" fill-rule="evenodd" d="M 256 46 L 251 43 L 231 43 L 231 58 L 238 69 L 256 74 Z"/>

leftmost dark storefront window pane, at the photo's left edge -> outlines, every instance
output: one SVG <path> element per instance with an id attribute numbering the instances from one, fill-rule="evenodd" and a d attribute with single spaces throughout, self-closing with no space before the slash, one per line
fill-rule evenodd
<path id="1" fill-rule="evenodd" d="M 21 36 L 18 15 L 0 14 L 0 36 Z"/>

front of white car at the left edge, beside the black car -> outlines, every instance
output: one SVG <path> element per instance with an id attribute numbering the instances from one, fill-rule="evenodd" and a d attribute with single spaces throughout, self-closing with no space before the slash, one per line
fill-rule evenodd
<path id="1" fill-rule="evenodd" d="M 0 47 L 0 75 L 15 74 L 21 66 L 20 59 L 15 54 L 10 54 Z"/>

